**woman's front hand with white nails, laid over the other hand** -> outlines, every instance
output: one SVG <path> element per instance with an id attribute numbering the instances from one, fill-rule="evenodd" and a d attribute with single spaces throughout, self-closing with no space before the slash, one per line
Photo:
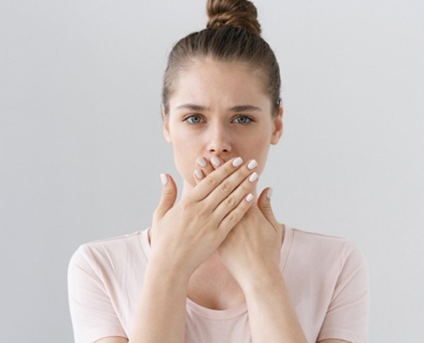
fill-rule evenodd
<path id="1" fill-rule="evenodd" d="M 248 194 L 256 181 L 249 181 L 251 174 L 241 158 L 232 158 L 177 204 L 177 186 L 170 175 L 163 175 L 163 194 L 151 227 L 155 269 L 177 271 L 188 279 L 252 206 Z"/>

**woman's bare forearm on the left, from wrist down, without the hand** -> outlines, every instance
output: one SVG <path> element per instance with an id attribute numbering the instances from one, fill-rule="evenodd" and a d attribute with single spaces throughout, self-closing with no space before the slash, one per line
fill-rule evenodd
<path id="1" fill-rule="evenodd" d="M 189 278 L 149 262 L 129 343 L 183 343 Z"/>

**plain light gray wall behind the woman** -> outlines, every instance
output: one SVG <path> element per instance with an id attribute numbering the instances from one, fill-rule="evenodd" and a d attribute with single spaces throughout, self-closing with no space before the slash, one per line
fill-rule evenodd
<path id="1" fill-rule="evenodd" d="M 370 342 L 423 337 L 424 2 L 255 1 L 283 79 L 259 190 L 279 221 L 357 243 Z M 78 245 L 143 230 L 171 173 L 160 86 L 205 1 L 0 3 L 2 342 L 71 342 Z"/>

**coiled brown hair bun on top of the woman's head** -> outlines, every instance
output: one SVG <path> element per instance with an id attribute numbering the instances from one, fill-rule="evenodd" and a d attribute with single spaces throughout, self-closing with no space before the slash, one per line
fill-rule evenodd
<path id="1" fill-rule="evenodd" d="M 250 1 L 208 0 L 206 12 L 209 18 L 206 28 L 231 25 L 261 35 L 257 8 Z"/>

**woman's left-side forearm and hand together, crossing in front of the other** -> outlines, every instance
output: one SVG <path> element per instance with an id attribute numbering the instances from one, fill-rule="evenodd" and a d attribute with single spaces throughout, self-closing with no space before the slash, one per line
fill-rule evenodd
<path id="1" fill-rule="evenodd" d="M 175 206 L 177 186 L 164 182 L 130 343 L 184 342 L 189 279 L 252 205 L 245 199 L 256 182 L 245 180 L 252 170 L 241 163 L 228 161 Z"/>

